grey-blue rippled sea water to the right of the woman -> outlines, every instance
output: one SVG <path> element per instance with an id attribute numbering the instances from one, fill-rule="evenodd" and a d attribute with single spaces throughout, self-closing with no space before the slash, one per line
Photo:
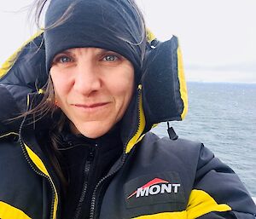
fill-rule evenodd
<path id="1" fill-rule="evenodd" d="M 201 141 L 256 197 L 256 84 L 189 83 L 189 112 L 177 135 Z M 166 123 L 154 133 L 167 136 Z"/>

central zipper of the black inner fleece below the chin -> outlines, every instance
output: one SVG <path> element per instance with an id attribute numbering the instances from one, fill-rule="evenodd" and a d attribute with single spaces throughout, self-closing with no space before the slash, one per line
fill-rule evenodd
<path id="1" fill-rule="evenodd" d="M 95 147 L 98 145 L 96 144 Z M 95 155 L 95 150 L 94 148 L 90 148 L 90 153 L 89 153 L 89 158 L 86 160 L 85 165 L 84 165 L 84 182 L 83 182 L 83 190 L 79 199 L 79 204 L 75 210 L 75 215 L 74 219 L 79 219 L 79 216 L 81 216 L 81 210 L 82 210 L 82 205 L 84 202 L 85 194 L 87 191 L 88 187 L 88 178 L 89 178 L 89 173 L 90 173 L 90 166 L 93 162 L 93 158 Z"/>

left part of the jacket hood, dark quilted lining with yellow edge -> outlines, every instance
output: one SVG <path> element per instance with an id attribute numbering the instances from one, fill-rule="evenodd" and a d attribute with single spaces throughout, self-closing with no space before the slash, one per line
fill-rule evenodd
<path id="1" fill-rule="evenodd" d="M 7 121 L 26 112 L 27 95 L 43 87 L 44 47 L 41 33 L 29 39 L 0 68 L 0 135 L 20 128 L 21 119 Z"/>

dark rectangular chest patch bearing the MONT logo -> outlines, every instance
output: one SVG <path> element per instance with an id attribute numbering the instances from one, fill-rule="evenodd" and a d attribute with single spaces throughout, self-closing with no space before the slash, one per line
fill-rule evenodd
<path id="1" fill-rule="evenodd" d="M 125 183 L 128 208 L 160 203 L 184 203 L 183 186 L 177 172 L 164 172 L 137 177 Z"/>

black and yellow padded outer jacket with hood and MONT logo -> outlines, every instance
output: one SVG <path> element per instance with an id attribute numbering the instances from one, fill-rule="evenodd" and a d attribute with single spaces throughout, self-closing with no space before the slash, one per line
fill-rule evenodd
<path id="1" fill-rule="evenodd" d="M 43 34 L 0 70 L 1 219 L 60 219 L 60 182 L 35 137 L 42 121 L 7 121 L 43 95 Z M 183 119 L 187 97 L 177 38 L 148 49 L 148 69 L 121 124 L 124 153 L 94 188 L 90 219 L 254 219 L 246 188 L 206 147 L 149 132 Z"/>

